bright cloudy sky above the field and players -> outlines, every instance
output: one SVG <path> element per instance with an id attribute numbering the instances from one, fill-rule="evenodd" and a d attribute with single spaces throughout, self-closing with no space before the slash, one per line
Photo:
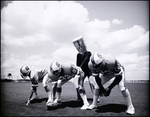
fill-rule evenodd
<path id="1" fill-rule="evenodd" d="M 1 78 L 28 64 L 76 64 L 72 40 L 114 56 L 126 80 L 149 80 L 149 1 L 9 1 L 1 6 Z"/>

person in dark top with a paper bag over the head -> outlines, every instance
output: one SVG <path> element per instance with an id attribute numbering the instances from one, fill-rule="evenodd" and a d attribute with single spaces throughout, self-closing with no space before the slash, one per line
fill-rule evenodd
<path id="1" fill-rule="evenodd" d="M 91 76 L 91 71 L 88 67 L 88 62 L 90 60 L 91 52 L 87 51 L 87 48 L 86 48 L 86 45 L 85 45 L 85 42 L 84 42 L 82 36 L 80 36 L 76 39 L 73 39 L 73 44 L 79 52 L 77 54 L 76 65 L 79 66 L 82 69 L 82 71 L 85 73 L 84 78 L 86 78 L 86 77 L 89 78 L 89 76 Z M 82 81 L 84 81 L 84 80 L 82 80 Z M 83 82 L 82 82 L 82 85 L 83 85 Z M 90 82 L 89 82 L 89 85 L 90 85 L 91 91 L 93 93 L 94 86 Z M 76 91 L 77 91 L 78 100 L 81 100 L 81 97 L 79 95 L 79 89 L 77 88 Z"/>

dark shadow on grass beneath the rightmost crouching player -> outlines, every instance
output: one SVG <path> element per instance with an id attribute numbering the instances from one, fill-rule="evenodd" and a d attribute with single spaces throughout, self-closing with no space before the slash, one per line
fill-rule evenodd
<path id="1" fill-rule="evenodd" d="M 104 113 L 104 112 L 125 112 L 127 109 L 126 105 L 123 104 L 107 104 L 103 106 L 99 106 L 95 112 Z"/>

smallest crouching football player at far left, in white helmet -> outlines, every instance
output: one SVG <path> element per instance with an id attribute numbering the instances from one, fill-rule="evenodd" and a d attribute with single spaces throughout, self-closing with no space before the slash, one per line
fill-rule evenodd
<path id="1" fill-rule="evenodd" d="M 23 65 L 20 68 L 21 77 L 23 79 L 26 79 L 27 77 L 29 77 L 31 80 L 31 92 L 30 92 L 30 95 L 29 95 L 26 105 L 29 105 L 31 100 L 39 98 L 39 96 L 37 94 L 38 83 L 42 82 L 42 80 L 46 74 L 48 74 L 47 70 L 45 70 L 45 69 L 38 70 L 33 66 L 30 67 L 29 65 Z M 35 98 L 33 97 L 33 94 L 35 94 L 35 96 L 36 96 Z"/>

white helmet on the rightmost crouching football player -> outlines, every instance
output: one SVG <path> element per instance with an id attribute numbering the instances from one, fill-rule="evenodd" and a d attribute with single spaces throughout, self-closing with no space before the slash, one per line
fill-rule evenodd
<path id="1" fill-rule="evenodd" d="M 91 63 L 94 65 L 94 66 L 97 66 L 99 65 L 101 62 L 102 62 L 103 58 L 102 58 L 102 55 L 100 55 L 99 53 L 94 53 L 92 56 L 91 56 Z"/>

